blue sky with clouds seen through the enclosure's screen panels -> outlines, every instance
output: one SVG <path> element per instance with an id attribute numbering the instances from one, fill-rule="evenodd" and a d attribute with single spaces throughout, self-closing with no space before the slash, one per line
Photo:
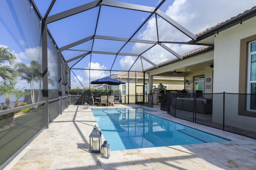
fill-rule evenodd
<path id="1" fill-rule="evenodd" d="M 44 16 L 51 0 L 34 0 L 40 13 Z M 160 1 L 157 0 L 118 0 L 119 2 L 134 3 L 144 6 L 156 7 Z M 7 3 L 8 0 L 4 0 Z M 76 6 L 91 2 L 91 0 L 56 0 L 52 11 L 52 14 L 57 14 L 63 10 L 68 10 Z M 224 20 L 236 16 L 255 6 L 255 2 L 252 0 L 166 0 L 164 4 L 160 7 L 160 10 L 170 16 L 173 20 L 180 23 L 186 29 L 188 29 L 193 34 L 199 33 L 208 27 L 218 24 Z M 30 4 L 21 4 L 27 6 L 30 9 Z M 10 9 L 12 10 L 12 9 Z M 63 47 L 80 39 L 86 38 L 88 36 L 94 35 L 96 27 L 96 19 L 98 15 L 98 8 L 88 10 L 77 14 L 76 16 L 71 16 L 55 23 L 48 24 L 48 27 L 56 41 L 58 47 Z M 33 9 L 30 12 L 34 12 Z M 17 13 L 17 15 L 19 15 Z M 38 30 L 31 32 L 29 29 L 30 21 L 27 21 L 28 27 L 21 28 L 20 23 L 8 23 L 8 18 L 10 16 L 9 9 L 1 9 L 0 12 L 0 45 L 10 47 L 18 58 L 18 61 L 23 63 L 29 63 L 29 61 L 24 61 L 23 56 L 33 56 L 34 53 L 38 51 L 36 47 L 39 42 L 27 42 L 27 34 L 36 34 L 40 29 L 40 24 L 38 23 Z M 132 33 L 138 28 L 138 26 L 148 17 L 148 14 L 138 11 L 125 10 L 120 8 L 112 8 L 107 6 L 102 6 L 101 14 L 99 17 L 98 27 L 96 29 L 96 35 L 114 36 L 122 38 L 130 38 Z M 15 18 L 14 18 L 15 19 Z M 14 20 L 18 21 L 18 20 Z M 14 31 L 8 31 L 8 27 L 12 27 Z M 22 31 L 25 31 L 22 33 Z M 158 18 L 158 32 L 160 41 L 189 41 L 187 36 L 180 34 L 177 30 L 173 29 L 170 24 L 166 21 Z M 174 36 L 175 35 L 175 36 Z M 178 36 L 177 36 L 178 35 Z M 150 18 L 148 22 L 138 31 L 138 33 L 133 37 L 134 39 L 146 39 L 146 40 L 156 40 L 156 20 L 155 18 Z M 28 44 L 33 44 L 28 45 Z M 94 51 L 115 51 L 117 52 L 124 42 L 117 41 L 114 43 L 110 40 L 96 39 L 94 42 Z M 91 50 L 92 40 L 82 43 L 72 49 L 82 49 Z M 103 46 L 102 46 L 103 45 Z M 190 50 L 196 49 L 198 47 L 191 45 L 168 45 L 176 53 L 182 55 Z M 121 53 L 142 53 L 144 49 L 148 47 L 147 44 L 141 43 L 129 43 Z M 72 59 L 86 51 L 63 51 L 65 59 Z M 159 46 L 153 47 L 150 51 L 143 54 L 149 60 L 160 63 L 171 59 L 172 55 L 167 53 Z M 115 59 L 115 55 L 100 55 L 93 54 L 90 63 L 90 56 L 84 57 L 81 62 L 76 64 L 73 68 L 91 68 L 93 69 L 110 69 Z M 112 69 L 116 70 L 127 70 L 131 67 L 137 57 L 131 56 L 117 56 Z M 69 63 L 72 66 L 77 61 Z M 144 68 L 151 66 L 151 64 L 144 63 Z M 49 66 L 51 67 L 51 66 Z M 54 65 L 52 65 L 54 67 Z M 134 64 L 132 70 L 140 70 L 142 68 L 140 60 Z M 80 82 L 84 86 L 89 85 L 89 73 L 84 70 L 73 70 L 76 77 L 79 78 Z M 113 72 L 112 72 L 113 73 Z M 103 76 L 108 76 L 110 72 L 108 71 L 92 71 L 90 80 L 95 80 Z M 80 87 L 80 82 L 76 77 L 71 75 L 72 87 Z"/>

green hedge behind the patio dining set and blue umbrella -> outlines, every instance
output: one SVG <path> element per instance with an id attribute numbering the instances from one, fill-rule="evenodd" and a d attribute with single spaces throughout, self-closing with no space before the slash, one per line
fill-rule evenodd
<path id="1" fill-rule="evenodd" d="M 76 99 L 74 104 L 84 104 L 87 102 L 88 104 L 92 104 L 92 97 L 100 97 L 100 96 L 110 96 L 110 90 L 109 89 L 80 89 L 80 88 L 72 88 L 70 90 L 70 95 L 76 95 L 80 96 Z M 111 95 L 112 96 L 121 96 L 121 90 L 112 90 L 111 89 Z"/>

